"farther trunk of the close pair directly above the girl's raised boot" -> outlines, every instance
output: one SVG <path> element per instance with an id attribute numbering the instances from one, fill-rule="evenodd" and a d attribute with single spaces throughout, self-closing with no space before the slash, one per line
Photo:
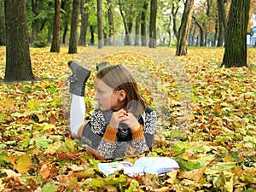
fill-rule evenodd
<path id="1" fill-rule="evenodd" d="M 84 7 L 84 0 L 80 0 L 81 27 L 80 27 L 79 45 L 81 46 L 85 46 L 86 44 L 86 33 L 87 33 L 88 20 L 89 20 L 89 9 L 88 9 L 89 2 L 90 0 L 85 0 L 85 7 Z"/>

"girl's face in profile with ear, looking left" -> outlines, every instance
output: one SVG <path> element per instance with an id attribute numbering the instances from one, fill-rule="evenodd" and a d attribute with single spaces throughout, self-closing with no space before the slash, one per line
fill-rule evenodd
<path id="1" fill-rule="evenodd" d="M 108 109 L 117 111 L 122 108 L 124 99 L 121 96 L 122 94 L 120 94 L 121 90 L 113 90 L 112 87 L 97 78 L 94 79 L 94 84 L 96 87 L 96 102 L 102 111 Z"/>

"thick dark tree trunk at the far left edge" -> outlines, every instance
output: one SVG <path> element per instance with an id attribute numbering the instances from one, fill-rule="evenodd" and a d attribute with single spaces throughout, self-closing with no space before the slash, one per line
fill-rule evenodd
<path id="1" fill-rule="evenodd" d="M 25 0 L 4 0 L 6 68 L 4 81 L 34 79 L 26 20 Z"/>

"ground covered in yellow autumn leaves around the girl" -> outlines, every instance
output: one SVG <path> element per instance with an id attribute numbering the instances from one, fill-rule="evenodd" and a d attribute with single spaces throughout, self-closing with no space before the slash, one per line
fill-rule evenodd
<path id="1" fill-rule="evenodd" d="M 79 54 L 31 49 L 32 82 L 3 82 L 0 48 L 0 191 L 255 191 L 256 51 L 248 68 L 219 68 L 224 49 L 189 49 L 176 58 L 170 48 L 79 48 Z M 140 91 L 158 113 L 154 150 L 177 171 L 162 177 L 104 177 L 99 160 L 68 132 L 67 61 L 80 61 L 92 75 L 86 86 L 86 120 L 96 108 L 96 63 L 131 68 Z M 134 161 L 138 156 L 125 158 Z"/>

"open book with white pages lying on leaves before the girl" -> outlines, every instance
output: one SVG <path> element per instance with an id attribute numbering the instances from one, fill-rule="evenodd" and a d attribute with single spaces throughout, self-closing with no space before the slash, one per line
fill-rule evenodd
<path id="1" fill-rule="evenodd" d="M 118 170 L 124 170 L 129 176 L 155 174 L 162 175 L 179 168 L 177 161 L 168 157 L 142 157 L 135 161 L 134 165 L 128 161 L 114 161 L 99 163 L 98 168 L 107 177 Z"/>

